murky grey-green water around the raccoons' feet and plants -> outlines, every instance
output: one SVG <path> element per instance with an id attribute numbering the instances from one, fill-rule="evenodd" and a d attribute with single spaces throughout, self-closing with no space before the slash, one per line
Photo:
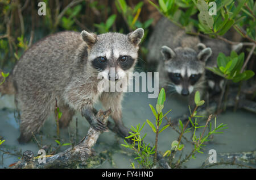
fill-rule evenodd
<path id="1" fill-rule="evenodd" d="M 2 144 L 2 150 L 8 150 L 10 153 L 18 154 L 13 156 L 11 154 L 4 154 L 0 152 L 0 168 L 6 168 L 10 164 L 18 161 L 19 154 L 24 150 L 32 150 L 36 154 L 39 150 L 39 146 L 35 141 L 31 141 L 28 144 L 20 145 L 17 141 L 19 137 L 19 122 L 15 119 L 14 112 L 14 97 L 5 96 L 0 98 L 0 136 L 5 139 Z M 143 124 L 146 119 L 150 119 L 154 123 L 154 116 L 150 110 L 148 104 L 155 106 L 156 99 L 148 99 L 147 93 L 126 93 L 123 101 L 123 122 L 126 127 L 131 125 L 135 126 L 138 123 Z M 97 106 L 100 108 L 101 106 Z M 175 117 L 187 112 L 188 108 L 185 99 L 180 99 L 177 95 L 171 95 L 167 98 L 164 104 L 163 112 L 167 112 L 172 109 L 168 117 Z M 61 129 L 61 143 L 69 143 L 72 139 L 76 139 L 76 118 L 79 141 L 86 135 L 89 129 L 89 124 L 81 115 L 76 114 L 73 116 L 73 120 L 69 125 L 69 128 Z M 201 122 L 203 125 L 205 122 Z M 217 124 L 228 124 L 228 129 L 224 130 L 224 134 L 214 135 L 212 143 L 208 144 L 202 151 L 204 154 L 196 154 L 196 159 L 191 160 L 184 165 L 187 168 L 199 168 L 202 163 L 209 157 L 209 149 L 215 149 L 217 153 L 223 152 L 243 152 L 256 149 L 256 116 L 245 111 L 237 111 L 236 113 L 228 110 L 225 114 L 219 115 L 217 118 Z M 163 123 L 164 124 L 164 123 Z M 147 133 L 145 141 L 150 144 L 154 144 L 155 135 L 151 128 L 146 124 L 143 128 L 143 132 Z M 189 139 L 191 133 L 186 135 Z M 176 140 L 178 134 L 171 128 L 160 133 L 159 135 L 159 150 L 165 152 L 170 149 L 172 141 Z M 41 140 L 42 138 L 42 140 Z M 56 125 L 53 115 L 48 118 L 44 124 L 39 135 L 36 135 L 36 139 L 43 145 L 57 146 L 56 139 Z M 134 162 L 133 156 L 130 156 L 131 151 L 126 150 L 121 145 L 123 140 L 114 135 L 113 132 L 105 132 L 97 141 L 94 147 L 97 153 L 110 152 L 110 157 L 103 164 L 93 166 L 93 168 L 130 168 L 130 162 Z M 191 152 L 192 145 L 186 143 L 183 151 L 183 156 Z M 68 146 L 63 146 L 60 150 L 66 149 Z M 179 155 L 179 154 L 177 154 Z M 179 156 L 177 156 L 179 157 Z M 176 157 L 176 158 L 177 158 Z M 218 157 L 217 157 L 218 162 Z M 217 166 L 220 168 L 220 166 Z M 222 168 L 236 168 L 236 166 L 221 166 Z"/>

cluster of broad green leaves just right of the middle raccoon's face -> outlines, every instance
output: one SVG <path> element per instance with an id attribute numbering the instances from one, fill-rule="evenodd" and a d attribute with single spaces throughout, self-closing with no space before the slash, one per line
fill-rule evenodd
<path id="1" fill-rule="evenodd" d="M 246 81 L 254 76 L 254 72 L 252 70 L 241 72 L 244 58 L 244 53 L 237 55 L 236 52 L 232 51 L 230 56 L 220 53 L 217 58 L 218 67 L 207 69 L 221 77 L 231 79 L 233 82 Z"/>

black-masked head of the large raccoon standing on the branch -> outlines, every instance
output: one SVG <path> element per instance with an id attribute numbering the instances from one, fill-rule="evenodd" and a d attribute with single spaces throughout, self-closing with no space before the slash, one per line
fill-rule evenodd
<path id="1" fill-rule="evenodd" d="M 88 67 L 108 81 L 126 78 L 137 62 L 143 34 L 142 28 L 128 35 L 109 32 L 96 36 L 82 31 L 82 39 L 88 45 Z"/>

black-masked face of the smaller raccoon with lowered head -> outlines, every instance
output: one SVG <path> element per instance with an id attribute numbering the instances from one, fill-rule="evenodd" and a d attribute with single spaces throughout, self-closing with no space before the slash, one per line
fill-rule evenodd
<path id="1" fill-rule="evenodd" d="M 161 53 L 164 59 L 164 72 L 175 87 L 177 93 L 187 96 L 194 89 L 203 86 L 205 61 L 212 51 L 205 48 L 199 53 L 191 48 L 176 48 L 174 51 L 163 46 Z"/>

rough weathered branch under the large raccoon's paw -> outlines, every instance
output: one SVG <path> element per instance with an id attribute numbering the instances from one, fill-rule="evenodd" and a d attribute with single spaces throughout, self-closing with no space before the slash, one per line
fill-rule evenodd
<path id="1" fill-rule="evenodd" d="M 111 110 L 98 111 L 96 117 L 102 122 L 106 123 Z M 13 168 L 71 168 L 77 164 L 86 164 L 89 157 L 94 156 L 93 146 L 96 144 L 101 132 L 89 128 L 87 135 L 80 141 L 79 144 L 73 148 L 64 150 L 53 156 L 46 157 L 46 163 L 39 163 L 39 161 L 31 156 L 29 150 L 23 153 L 23 158 L 17 162 Z M 31 157 L 31 158 L 30 158 Z"/>

